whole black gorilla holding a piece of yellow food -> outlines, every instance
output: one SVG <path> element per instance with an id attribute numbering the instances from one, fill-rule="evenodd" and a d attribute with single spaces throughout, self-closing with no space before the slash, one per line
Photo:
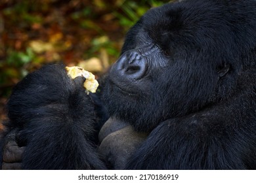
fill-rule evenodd
<path id="1" fill-rule="evenodd" d="M 87 95 L 46 65 L 7 103 L 3 169 L 256 169 L 256 1 L 152 8 Z"/>

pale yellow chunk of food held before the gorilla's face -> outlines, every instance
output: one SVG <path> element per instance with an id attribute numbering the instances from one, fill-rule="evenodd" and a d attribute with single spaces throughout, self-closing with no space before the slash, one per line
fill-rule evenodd
<path id="1" fill-rule="evenodd" d="M 98 88 L 98 82 L 97 80 L 95 80 L 95 75 L 88 71 L 85 71 L 85 69 L 83 69 L 82 67 L 74 66 L 65 68 L 68 72 L 68 76 L 70 76 L 70 78 L 72 79 L 76 78 L 77 76 L 83 76 L 84 78 L 86 78 L 85 82 L 83 83 L 83 87 L 85 88 L 85 90 L 87 90 L 87 94 L 89 94 L 89 92 L 96 92 L 96 89 Z"/>

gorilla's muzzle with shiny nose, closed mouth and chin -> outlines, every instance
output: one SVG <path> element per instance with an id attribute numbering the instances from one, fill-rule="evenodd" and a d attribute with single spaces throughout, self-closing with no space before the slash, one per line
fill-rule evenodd
<path id="1" fill-rule="evenodd" d="M 150 82 L 145 78 L 147 70 L 147 59 L 136 50 L 125 52 L 114 63 L 103 92 L 110 112 L 129 110 L 150 91 Z"/>

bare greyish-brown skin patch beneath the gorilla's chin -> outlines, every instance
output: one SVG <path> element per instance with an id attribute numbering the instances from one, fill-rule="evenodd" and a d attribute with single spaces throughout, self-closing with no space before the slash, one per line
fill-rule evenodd
<path id="1" fill-rule="evenodd" d="M 133 130 L 131 125 L 110 118 L 100 129 L 99 154 L 104 158 L 109 169 L 124 169 L 127 160 L 146 139 L 146 133 Z"/>

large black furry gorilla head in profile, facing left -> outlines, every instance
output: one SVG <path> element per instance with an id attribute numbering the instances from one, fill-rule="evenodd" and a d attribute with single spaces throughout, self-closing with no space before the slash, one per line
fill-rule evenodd
<path id="1" fill-rule="evenodd" d="M 246 72 L 255 69 L 256 7 L 249 3 L 183 1 L 146 12 L 108 75 L 110 115 L 150 131 L 238 93 L 239 83 L 255 78 Z"/>

